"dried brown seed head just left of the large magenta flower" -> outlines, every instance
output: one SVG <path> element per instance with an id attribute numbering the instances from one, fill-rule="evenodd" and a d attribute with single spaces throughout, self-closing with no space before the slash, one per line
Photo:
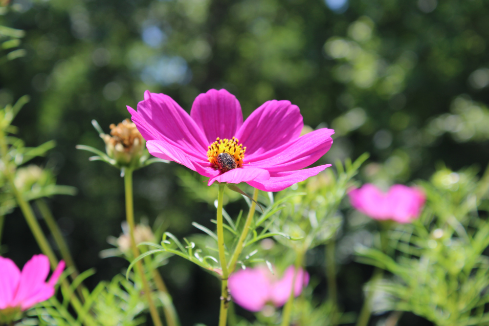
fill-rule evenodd
<path id="1" fill-rule="evenodd" d="M 111 134 L 101 134 L 107 155 L 120 166 L 135 166 L 144 153 L 146 141 L 129 119 L 117 126 L 111 124 Z"/>

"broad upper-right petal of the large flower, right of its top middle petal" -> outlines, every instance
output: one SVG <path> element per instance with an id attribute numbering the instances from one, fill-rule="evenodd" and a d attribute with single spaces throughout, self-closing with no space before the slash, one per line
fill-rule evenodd
<path id="1" fill-rule="evenodd" d="M 299 137 L 304 127 L 299 108 L 289 101 L 267 101 L 244 121 L 236 138 L 246 147 L 246 155 L 255 155 L 280 147 Z"/>

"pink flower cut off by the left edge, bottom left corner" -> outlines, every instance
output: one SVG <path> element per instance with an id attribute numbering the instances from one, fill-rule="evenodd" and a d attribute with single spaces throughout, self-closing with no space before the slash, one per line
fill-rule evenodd
<path id="1" fill-rule="evenodd" d="M 3 309 L 20 307 L 26 310 L 52 297 L 54 285 L 64 268 L 65 262 L 60 261 L 46 283 L 50 269 L 46 256 L 34 255 L 25 263 L 22 272 L 13 261 L 0 257 L 0 315 Z"/>

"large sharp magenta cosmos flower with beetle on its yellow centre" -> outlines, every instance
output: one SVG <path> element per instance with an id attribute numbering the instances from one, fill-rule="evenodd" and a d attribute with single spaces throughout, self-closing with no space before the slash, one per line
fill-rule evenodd
<path id="1" fill-rule="evenodd" d="M 331 166 L 301 170 L 328 152 L 334 130 L 300 136 L 302 115 L 289 101 L 265 102 L 244 122 L 240 103 L 225 89 L 197 96 L 190 115 L 168 95 L 149 91 L 137 111 L 128 110 L 151 154 L 208 176 L 209 185 L 246 182 L 280 191 Z"/>

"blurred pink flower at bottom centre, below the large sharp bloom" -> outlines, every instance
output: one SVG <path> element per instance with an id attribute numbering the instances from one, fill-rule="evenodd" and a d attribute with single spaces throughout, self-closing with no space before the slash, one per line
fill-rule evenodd
<path id="1" fill-rule="evenodd" d="M 229 276 L 229 292 L 234 302 L 246 310 L 260 311 L 267 302 L 284 305 L 292 291 L 294 266 L 289 266 L 281 279 L 276 279 L 267 267 L 246 268 Z M 301 294 L 309 283 L 309 274 L 302 268 L 297 272 L 294 295 Z"/>

